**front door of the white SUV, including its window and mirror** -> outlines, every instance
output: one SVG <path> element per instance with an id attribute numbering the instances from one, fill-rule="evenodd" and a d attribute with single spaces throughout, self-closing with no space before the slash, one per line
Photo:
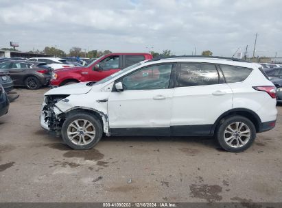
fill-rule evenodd
<path id="1" fill-rule="evenodd" d="M 122 79 L 108 98 L 111 135 L 169 135 L 175 64 L 145 66 Z"/>

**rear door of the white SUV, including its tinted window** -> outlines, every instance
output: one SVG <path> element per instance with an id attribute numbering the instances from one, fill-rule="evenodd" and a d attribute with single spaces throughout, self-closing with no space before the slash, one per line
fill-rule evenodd
<path id="1" fill-rule="evenodd" d="M 178 64 L 172 102 L 172 135 L 209 135 L 218 117 L 232 109 L 233 92 L 215 64 Z"/>

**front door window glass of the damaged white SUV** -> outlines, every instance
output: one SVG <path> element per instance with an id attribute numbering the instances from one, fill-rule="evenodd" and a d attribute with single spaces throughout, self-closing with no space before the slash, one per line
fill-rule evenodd
<path id="1" fill-rule="evenodd" d="M 173 64 L 146 66 L 124 77 L 124 90 L 156 90 L 169 88 Z"/>

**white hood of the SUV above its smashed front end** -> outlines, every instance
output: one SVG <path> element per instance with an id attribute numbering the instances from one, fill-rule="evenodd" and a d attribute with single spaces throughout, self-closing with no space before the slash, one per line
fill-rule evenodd
<path id="1" fill-rule="evenodd" d="M 67 86 L 62 86 L 58 88 L 54 88 L 45 93 L 45 95 L 50 94 L 86 94 L 89 92 L 94 86 L 86 86 L 87 82 L 73 83 Z"/>

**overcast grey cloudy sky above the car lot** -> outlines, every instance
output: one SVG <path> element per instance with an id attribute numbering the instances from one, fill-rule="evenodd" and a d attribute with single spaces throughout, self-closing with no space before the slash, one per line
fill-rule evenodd
<path id="1" fill-rule="evenodd" d="M 45 46 L 114 52 L 204 50 L 233 55 L 248 44 L 252 55 L 282 56 L 281 0 L 0 0 L 0 48 Z M 152 48 L 153 47 L 153 48 Z"/>

